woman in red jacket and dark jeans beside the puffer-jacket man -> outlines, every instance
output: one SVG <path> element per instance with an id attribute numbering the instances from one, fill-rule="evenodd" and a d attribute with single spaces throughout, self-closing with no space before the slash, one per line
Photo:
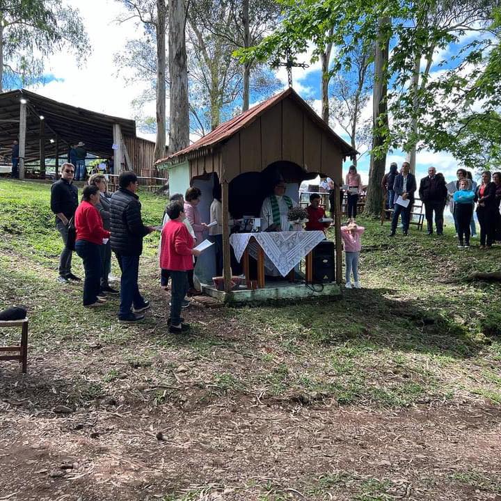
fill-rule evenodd
<path id="1" fill-rule="evenodd" d="M 84 306 L 87 308 L 94 308 L 103 303 L 103 299 L 97 297 L 101 289 L 100 246 L 103 244 L 103 239 L 109 239 L 110 232 L 104 230 L 102 218 L 95 207 L 99 202 L 99 188 L 86 186 L 82 202 L 74 215 L 74 225 L 77 229 L 75 250 L 84 261 Z"/>

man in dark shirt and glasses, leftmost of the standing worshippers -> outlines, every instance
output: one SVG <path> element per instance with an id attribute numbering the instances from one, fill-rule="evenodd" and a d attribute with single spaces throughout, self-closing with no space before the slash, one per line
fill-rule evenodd
<path id="1" fill-rule="evenodd" d="M 61 166 L 61 179 L 51 186 L 51 211 L 56 214 L 56 228 L 63 239 L 63 251 L 59 257 L 58 282 L 67 283 L 68 280 L 80 280 L 71 272 L 73 251 L 66 248 L 68 223 L 78 207 L 78 188 L 73 184 L 74 166 Z"/>

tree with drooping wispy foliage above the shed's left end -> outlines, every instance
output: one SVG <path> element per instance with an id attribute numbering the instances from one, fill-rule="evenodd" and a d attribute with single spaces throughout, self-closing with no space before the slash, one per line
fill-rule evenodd
<path id="1" fill-rule="evenodd" d="M 38 81 L 44 59 L 63 48 L 77 58 L 90 53 L 77 9 L 58 0 L 0 1 L 0 92 L 4 83 L 10 87 Z"/>

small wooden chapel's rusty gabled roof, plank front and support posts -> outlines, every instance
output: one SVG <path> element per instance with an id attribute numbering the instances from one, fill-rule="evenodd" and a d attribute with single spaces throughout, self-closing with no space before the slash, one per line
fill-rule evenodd
<path id="1" fill-rule="evenodd" d="M 184 191 L 197 178 L 214 173 L 222 187 L 225 290 L 230 290 L 228 186 L 240 175 L 264 173 L 270 166 L 282 168 L 288 182 L 301 182 L 318 174 L 342 179 L 342 162 L 356 155 L 315 111 L 288 88 L 269 100 L 228 120 L 188 148 L 159 160 L 169 173 L 170 192 Z M 339 190 L 336 190 L 339 193 Z M 339 205 L 339 204 L 337 204 Z M 340 230 L 340 214 L 336 217 Z M 340 271 L 340 239 L 337 238 L 337 275 Z"/>

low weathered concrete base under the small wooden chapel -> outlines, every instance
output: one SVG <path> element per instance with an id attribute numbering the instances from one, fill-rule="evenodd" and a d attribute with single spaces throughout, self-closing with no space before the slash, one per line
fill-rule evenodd
<path id="1" fill-rule="evenodd" d="M 341 287 L 336 283 L 315 284 L 307 287 L 305 283 L 291 284 L 287 281 L 267 283 L 264 289 L 244 289 L 232 292 L 218 291 L 211 285 L 202 285 L 202 292 L 221 303 L 263 303 L 266 301 L 301 301 L 323 296 L 340 296 Z"/>

